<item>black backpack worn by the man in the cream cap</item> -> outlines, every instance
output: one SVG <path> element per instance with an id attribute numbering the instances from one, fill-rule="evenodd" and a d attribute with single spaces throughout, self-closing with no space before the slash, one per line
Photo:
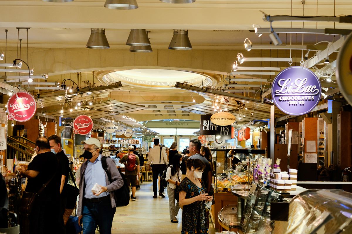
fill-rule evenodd
<path id="1" fill-rule="evenodd" d="M 106 171 L 106 174 L 108 175 L 110 183 L 112 183 L 114 181 L 111 180 L 111 174 L 108 170 L 108 165 L 106 163 L 107 158 L 110 158 L 110 157 L 105 157 L 105 156 L 101 157 L 101 166 Z M 130 188 L 127 185 L 125 175 L 122 174 L 120 168 L 117 168 L 117 169 L 120 172 L 122 180 L 124 180 L 124 185 L 121 188 L 112 191 L 115 195 L 116 207 L 127 206 L 128 203 L 130 202 Z"/>

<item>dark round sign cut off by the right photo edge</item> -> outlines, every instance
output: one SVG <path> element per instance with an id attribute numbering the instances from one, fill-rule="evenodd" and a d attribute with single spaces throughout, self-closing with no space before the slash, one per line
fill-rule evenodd
<path id="1" fill-rule="evenodd" d="M 352 33 L 337 56 L 336 78 L 344 98 L 352 106 Z"/>

